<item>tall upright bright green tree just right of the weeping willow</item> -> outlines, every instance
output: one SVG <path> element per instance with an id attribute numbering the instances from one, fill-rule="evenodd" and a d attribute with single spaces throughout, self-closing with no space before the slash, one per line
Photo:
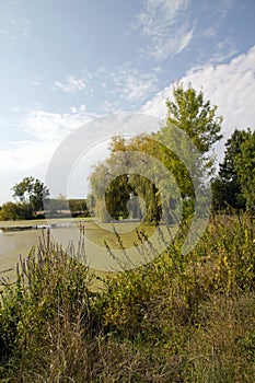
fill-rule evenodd
<path id="1" fill-rule="evenodd" d="M 173 100 L 166 101 L 166 107 L 167 118 L 159 132 L 162 162 L 176 181 L 178 189 L 173 186 L 171 197 L 176 199 L 181 194 L 185 216 L 194 210 L 195 185 L 202 185 L 205 177 L 213 174 L 212 148 L 222 138 L 223 118 L 217 116 L 216 105 L 204 100 L 201 91 L 196 92 L 190 84 L 185 90 L 179 82 L 174 84 Z"/>

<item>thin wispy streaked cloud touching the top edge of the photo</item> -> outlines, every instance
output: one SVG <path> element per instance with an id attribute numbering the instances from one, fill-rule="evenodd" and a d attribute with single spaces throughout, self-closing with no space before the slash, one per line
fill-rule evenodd
<path id="1" fill-rule="evenodd" d="M 158 60 L 176 55 L 193 38 L 188 20 L 188 0 L 147 0 L 144 11 L 136 16 L 131 31 L 149 38 L 146 55 Z"/>

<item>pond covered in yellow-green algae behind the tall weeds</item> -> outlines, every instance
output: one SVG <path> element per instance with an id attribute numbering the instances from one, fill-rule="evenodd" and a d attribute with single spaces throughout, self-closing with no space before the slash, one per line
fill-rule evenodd
<path id="1" fill-rule="evenodd" d="M 170 234 L 166 227 L 159 229 L 152 224 L 131 221 L 120 221 L 114 225 L 98 224 L 91 219 L 71 221 L 58 219 L 50 220 L 50 223 L 46 220 L 0 222 L 0 278 L 8 277 L 11 281 L 14 280 L 20 256 L 26 257 L 30 249 L 37 246 L 39 237 L 46 235 L 47 228 L 50 229 L 53 242 L 62 245 L 65 249 L 70 244 L 78 249 L 81 227 L 84 234 L 82 237 L 85 241 L 85 260 L 92 269 L 102 271 L 134 268 L 150 262 L 165 249 L 166 242 L 161 241 L 162 233 L 164 239 L 167 239 L 176 232 L 176 228 L 171 228 L 172 234 Z M 137 236 L 137 229 L 143 232 L 140 239 Z M 120 241 L 116 237 L 116 232 Z M 147 237 L 153 244 L 152 253 Z"/>

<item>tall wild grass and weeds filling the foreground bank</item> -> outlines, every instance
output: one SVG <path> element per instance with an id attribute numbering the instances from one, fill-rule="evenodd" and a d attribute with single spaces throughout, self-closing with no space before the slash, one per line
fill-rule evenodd
<path id="1" fill-rule="evenodd" d="M 185 230 L 96 292 L 84 243 L 65 252 L 43 237 L 2 292 L 1 382 L 253 382 L 253 222 L 212 218 L 183 256 Z"/>

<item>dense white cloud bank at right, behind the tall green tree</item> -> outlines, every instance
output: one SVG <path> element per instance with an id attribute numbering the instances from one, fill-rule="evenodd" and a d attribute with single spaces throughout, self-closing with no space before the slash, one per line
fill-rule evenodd
<path id="1" fill-rule="evenodd" d="M 184 86 L 190 82 L 197 91 L 202 90 L 205 100 L 210 100 L 212 105 L 218 105 L 218 115 L 224 117 L 222 128 L 225 139 L 231 136 L 234 128 L 255 128 L 254 62 L 255 46 L 229 63 L 217 66 L 209 63 L 195 68 L 181 79 Z M 172 85 L 166 86 L 146 103 L 141 112 L 165 119 L 165 101 L 171 96 Z"/>

